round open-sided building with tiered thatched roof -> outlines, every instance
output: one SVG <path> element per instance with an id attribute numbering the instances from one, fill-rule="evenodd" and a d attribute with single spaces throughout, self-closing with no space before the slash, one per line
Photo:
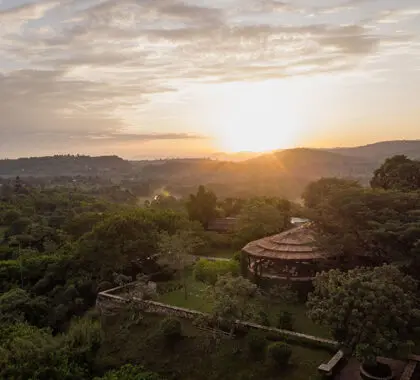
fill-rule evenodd
<path id="1" fill-rule="evenodd" d="M 310 283 L 319 263 L 331 258 L 314 244 L 311 223 L 255 240 L 243 249 L 248 273 L 255 278 Z"/>

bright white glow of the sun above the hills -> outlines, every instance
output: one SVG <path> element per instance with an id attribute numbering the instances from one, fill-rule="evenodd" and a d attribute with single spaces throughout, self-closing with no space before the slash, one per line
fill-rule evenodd
<path id="1" fill-rule="evenodd" d="M 228 152 L 292 147 L 300 134 L 299 110 L 284 89 L 250 86 L 225 93 L 217 118 L 217 140 Z"/>

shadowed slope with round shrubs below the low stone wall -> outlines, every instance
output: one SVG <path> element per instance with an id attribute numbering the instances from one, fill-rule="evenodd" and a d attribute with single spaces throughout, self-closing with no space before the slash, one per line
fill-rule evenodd
<path id="1" fill-rule="evenodd" d="M 215 337 L 191 321 L 143 315 L 127 327 L 124 313 L 103 323 L 100 367 L 141 364 L 165 379 L 316 379 L 317 367 L 331 353 L 273 342 L 264 335 Z"/>

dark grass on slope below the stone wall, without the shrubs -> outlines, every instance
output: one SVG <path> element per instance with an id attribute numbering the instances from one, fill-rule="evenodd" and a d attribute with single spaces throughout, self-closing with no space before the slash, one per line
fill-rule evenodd
<path id="1" fill-rule="evenodd" d="M 159 338 L 162 317 L 145 315 L 140 324 L 123 334 L 120 317 L 102 324 L 105 341 L 97 355 L 99 368 L 141 364 L 168 380 L 309 380 L 317 367 L 331 358 L 326 351 L 292 345 L 290 365 L 273 369 L 268 361 L 250 359 L 246 340 L 215 341 L 210 333 L 197 330 L 187 320 L 181 320 L 184 338 L 168 349 Z"/>

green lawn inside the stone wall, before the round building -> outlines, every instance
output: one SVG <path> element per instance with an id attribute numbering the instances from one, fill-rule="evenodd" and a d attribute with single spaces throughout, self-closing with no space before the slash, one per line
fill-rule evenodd
<path id="1" fill-rule="evenodd" d="M 208 313 L 211 311 L 212 305 L 211 300 L 204 296 L 206 288 L 207 285 L 196 281 L 191 275 L 187 281 L 187 299 L 184 297 L 184 289 L 179 289 L 160 295 L 159 302 Z M 306 307 L 301 303 L 271 305 L 267 311 L 271 326 L 276 326 L 277 318 L 281 311 L 288 311 L 293 314 L 295 331 L 322 338 L 330 338 L 329 331 L 325 327 L 316 325 L 306 316 Z"/>

